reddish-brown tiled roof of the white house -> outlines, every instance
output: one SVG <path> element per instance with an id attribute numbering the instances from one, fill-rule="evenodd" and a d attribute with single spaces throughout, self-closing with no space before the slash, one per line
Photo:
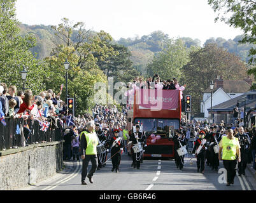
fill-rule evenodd
<path id="1" fill-rule="evenodd" d="M 217 83 L 215 82 L 213 92 L 216 91 L 218 88 Z M 248 82 L 241 80 L 241 81 L 225 81 L 224 80 L 224 86 L 222 89 L 224 89 L 225 93 L 245 93 L 249 91 L 251 88 L 251 85 L 248 84 Z M 210 87 L 205 89 L 203 93 L 210 93 Z"/>

